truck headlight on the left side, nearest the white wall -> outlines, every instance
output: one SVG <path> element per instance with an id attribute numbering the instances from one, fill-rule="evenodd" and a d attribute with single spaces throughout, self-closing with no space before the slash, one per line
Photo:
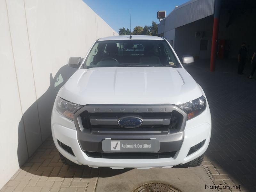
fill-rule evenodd
<path id="1" fill-rule="evenodd" d="M 74 121 L 74 113 L 80 109 L 82 107 L 82 105 L 76 104 L 76 103 L 72 103 L 70 101 L 61 99 L 60 97 L 57 98 L 56 100 L 56 109 L 57 111 L 67 117 L 70 120 Z"/>

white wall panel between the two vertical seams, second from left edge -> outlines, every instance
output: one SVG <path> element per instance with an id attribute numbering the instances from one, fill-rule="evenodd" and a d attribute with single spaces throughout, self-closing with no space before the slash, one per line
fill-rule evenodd
<path id="1" fill-rule="evenodd" d="M 23 0 L 6 1 L 29 156 L 42 143 Z M 31 107 L 32 106 L 32 107 Z M 29 108 L 29 110 L 28 110 Z M 24 113 L 29 111 L 29 113 Z M 18 148 L 20 150 L 20 147 Z"/>

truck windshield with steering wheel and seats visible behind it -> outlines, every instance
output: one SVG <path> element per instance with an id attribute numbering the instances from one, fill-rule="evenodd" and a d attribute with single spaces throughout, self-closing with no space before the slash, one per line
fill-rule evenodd
<path id="1" fill-rule="evenodd" d="M 92 67 L 181 67 L 164 40 L 97 41 L 84 68 Z"/>

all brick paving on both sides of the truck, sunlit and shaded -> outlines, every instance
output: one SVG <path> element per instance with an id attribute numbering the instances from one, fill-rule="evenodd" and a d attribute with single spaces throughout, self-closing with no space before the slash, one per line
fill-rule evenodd
<path id="1" fill-rule="evenodd" d="M 209 72 L 200 60 L 188 72 L 203 87 L 212 114 L 212 138 L 203 167 L 215 185 L 231 190 L 256 191 L 256 80 L 236 74 L 236 61 L 219 62 Z M 245 73 L 249 74 L 250 66 Z M 66 166 L 49 137 L 0 190 L 33 192 L 92 192 L 100 169 Z M 239 186 L 240 189 L 232 189 Z M 209 190 L 206 190 L 209 191 Z"/>

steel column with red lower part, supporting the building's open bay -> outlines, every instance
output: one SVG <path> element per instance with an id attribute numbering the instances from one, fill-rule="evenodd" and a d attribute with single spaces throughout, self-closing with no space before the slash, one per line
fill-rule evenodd
<path id="1" fill-rule="evenodd" d="M 220 0 L 215 0 L 210 71 L 215 71 L 216 50 L 217 50 L 217 41 L 218 41 L 218 33 L 219 33 L 219 18 L 220 18 Z"/>

